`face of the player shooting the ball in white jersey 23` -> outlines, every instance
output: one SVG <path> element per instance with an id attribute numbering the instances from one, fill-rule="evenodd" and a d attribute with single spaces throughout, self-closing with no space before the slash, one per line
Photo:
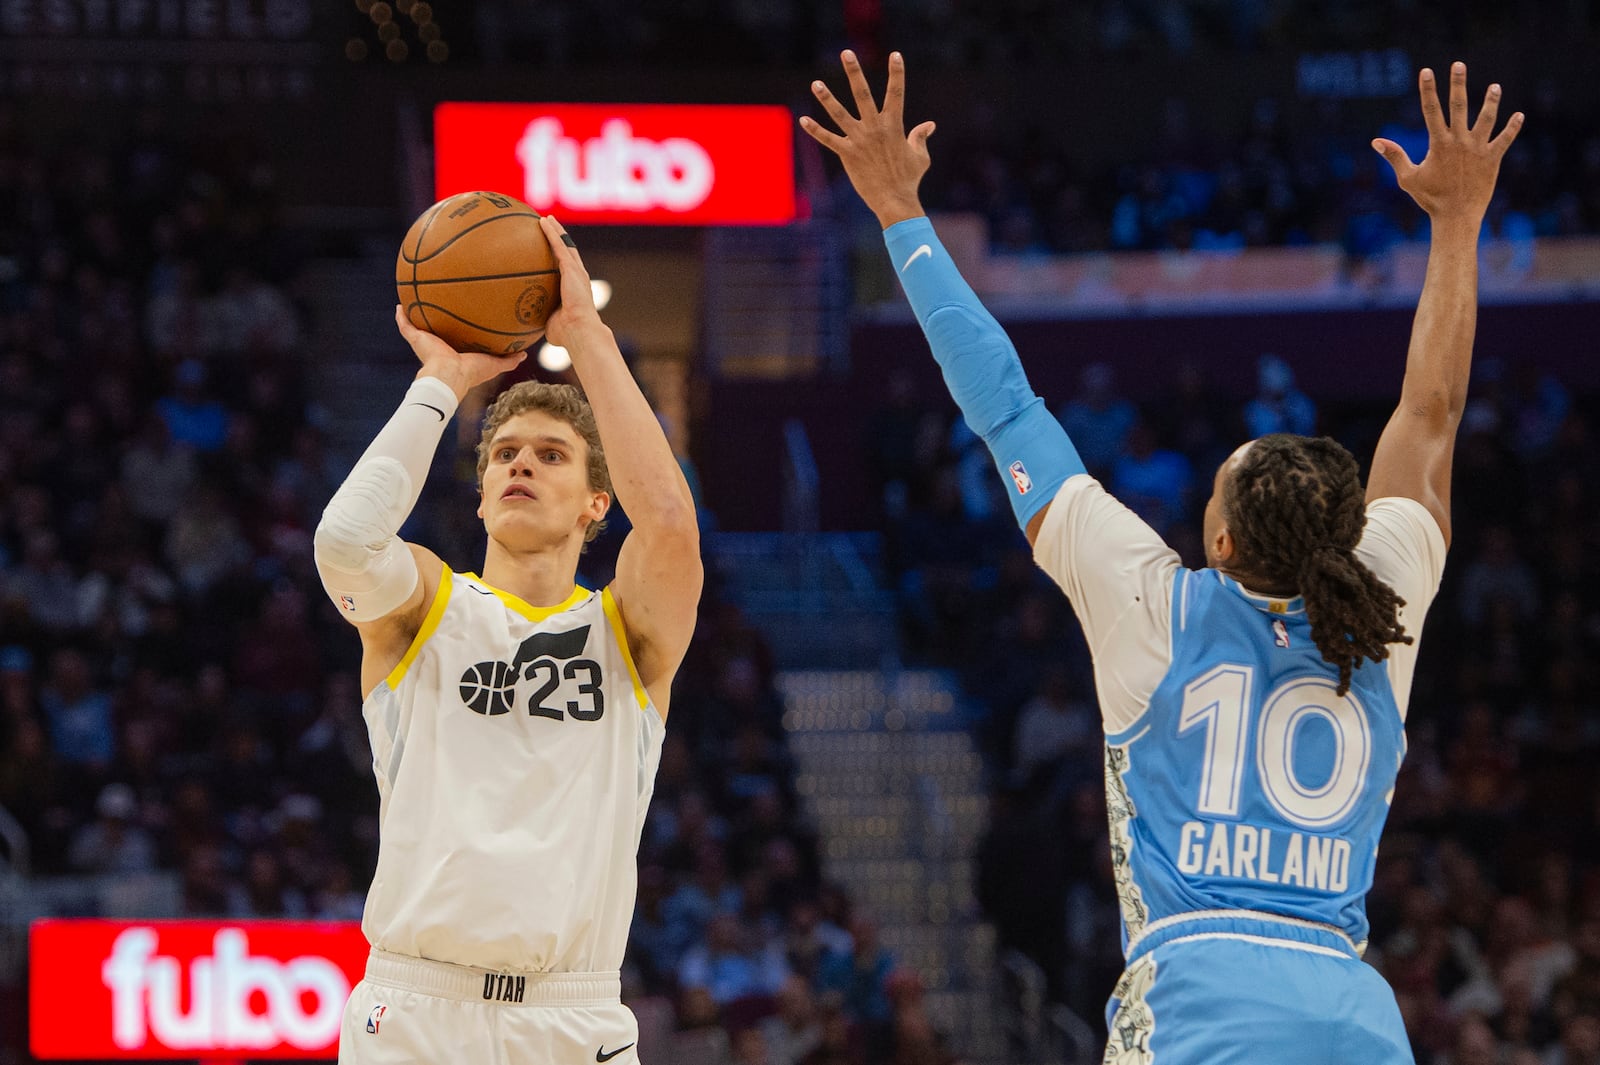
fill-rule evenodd
<path id="1" fill-rule="evenodd" d="M 589 486 L 589 445 L 544 411 L 506 421 L 490 441 L 478 517 L 501 544 L 520 550 L 579 540 L 611 497 Z"/>

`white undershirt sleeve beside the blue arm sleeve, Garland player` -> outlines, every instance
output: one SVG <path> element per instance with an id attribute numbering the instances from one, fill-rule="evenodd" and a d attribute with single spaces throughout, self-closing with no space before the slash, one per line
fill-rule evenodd
<path id="1" fill-rule="evenodd" d="M 1051 501 L 1034 561 L 1067 593 L 1094 656 L 1101 720 L 1122 732 L 1144 715 L 1173 660 L 1178 552 L 1080 473 Z"/>

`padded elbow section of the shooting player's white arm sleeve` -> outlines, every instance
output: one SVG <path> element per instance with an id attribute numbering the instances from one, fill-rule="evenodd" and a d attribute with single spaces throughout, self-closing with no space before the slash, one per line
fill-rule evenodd
<path id="1" fill-rule="evenodd" d="M 395 536 L 410 502 L 410 473 L 395 459 L 376 457 L 357 464 L 322 512 L 317 572 L 352 622 L 376 620 L 416 590 L 416 560 Z"/>

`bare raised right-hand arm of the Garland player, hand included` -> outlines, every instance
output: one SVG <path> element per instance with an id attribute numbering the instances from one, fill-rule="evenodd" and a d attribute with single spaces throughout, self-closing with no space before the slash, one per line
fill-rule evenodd
<path id="1" fill-rule="evenodd" d="M 1450 542 L 1450 470 L 1467 403 L 1472 336 L 1478 317 L 1478 230 L 1494 195 L 1506 149 L 1522 130 L 1517 112 L 1494 133 L 1499 85 L 1467 125 L 1467 67 L 1450 67 L 1450 120 L 1440 112 L 1434 72 L 1419 75 L 1427 155 L 1413 163 L 1394 141 L 1373 141 L 1400 187 L 1427 211 L 1432 243 L 1422 297 L 1411 326 L 1400 405 L 1378 440 L 1366 499 L 1403 496 L 1427 507 Z"/>

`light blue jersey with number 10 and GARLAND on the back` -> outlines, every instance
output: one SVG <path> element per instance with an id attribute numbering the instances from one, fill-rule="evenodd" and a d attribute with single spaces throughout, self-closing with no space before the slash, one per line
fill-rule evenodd
<path id="1" fill-rule="evenodd" d="M 1176 915 L 1254 910 L 1366 940 L 1365 895 L 1405 750 L 1381 664 L 1338 670 L 1304 604 L 1179 569 L 1171 665 L 1106 737 L 1123 947 Z"/>

